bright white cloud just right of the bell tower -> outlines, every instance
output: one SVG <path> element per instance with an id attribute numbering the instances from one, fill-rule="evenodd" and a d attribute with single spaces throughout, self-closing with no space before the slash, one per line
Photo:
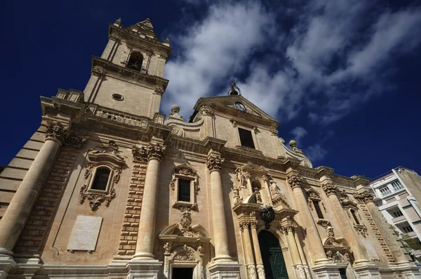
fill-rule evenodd
<path id="1" fill-rule="evenodd" d="M 175 37 L 182 51 L 166 65 L 170 82 L 163 113 L 176 103 L 187 119 L 198 98 L 215 95 L 215 86 L 228 84 L 248 67 L 251 53 L 265 44 L 271 26 L 272 15 L 255 2 L 210 6 L 203 20 Z"/>

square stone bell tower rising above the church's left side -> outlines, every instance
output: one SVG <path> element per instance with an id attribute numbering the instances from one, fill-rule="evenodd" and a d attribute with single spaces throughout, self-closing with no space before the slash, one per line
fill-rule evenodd
<path id="1" fill-rule="evenodd" d="M 159 41 L 149 18 L 123 27 L 109 25 L 109 40 L 101 57 L 92 58 L 84 100 L 90 110 L 116 110 L 154 118 L 168 80 L 163 78 L 171 53 L 170 40 Z"/>

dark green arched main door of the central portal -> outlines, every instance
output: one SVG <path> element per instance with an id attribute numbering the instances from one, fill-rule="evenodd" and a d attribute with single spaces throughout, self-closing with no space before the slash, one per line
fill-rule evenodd
<path id="1" fill-rule="evenodd" d="M 278 239 L 271 232 L 265 230 L 260 231 L 258 239 L 263 266 L 265 266 L 266 279 L 288 279 Z"/>

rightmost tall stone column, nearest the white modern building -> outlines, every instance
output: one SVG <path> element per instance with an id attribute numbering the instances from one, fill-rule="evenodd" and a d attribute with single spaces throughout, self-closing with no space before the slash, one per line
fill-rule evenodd
<path id="1" fill-rule="evenodd" d="M 366 203 L 367 209 L 373 217 L 373 220 L 376 223 L 377 227 L 380 228 L 380 233 L 382 233 L 382 236 L 385 239 L 385 242 L 387 243 L 390 252 L 392 252 L 393 257 L 396 260 L 396 263 L 409 264 L 406 255 L 403 254 L 401 245 L 399 245 L 399 242 L 396 240 L 396 237 L 392 233 L 392 230 L 389 228 L 389 223 L 386 222 L 386 220 L 384 219 L 385 217 L 383 217 L 377 205 L 375 205 L 373 195 L 370 192 L 368 192 L 368 190 L 365 190 L 361 193 L 355 193 L 354 197 L 356 198 L 356 200 Z"/>

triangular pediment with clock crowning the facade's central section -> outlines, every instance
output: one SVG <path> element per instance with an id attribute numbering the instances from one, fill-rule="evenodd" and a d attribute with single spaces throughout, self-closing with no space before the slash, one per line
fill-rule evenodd
<path id="1" fill-rule="evenodd" d="M 209 103 L 212 103 L 220 108 L 229 108 L 227 113 L 234 112 L 234 114 L 239 117 L 245 117 L 248 115 L 255 119 L 274 122 L 274 126 L 278 126 L 279 124 L 276 119 L 258 108 L 257 105 L 251 103 L 250 100 L 243 97 L 242 95 L 203 97 L 197 101 L 196 105 L 194 106 L 194 110 L 199 110 L 202 105 L 208 105 Z"/>

